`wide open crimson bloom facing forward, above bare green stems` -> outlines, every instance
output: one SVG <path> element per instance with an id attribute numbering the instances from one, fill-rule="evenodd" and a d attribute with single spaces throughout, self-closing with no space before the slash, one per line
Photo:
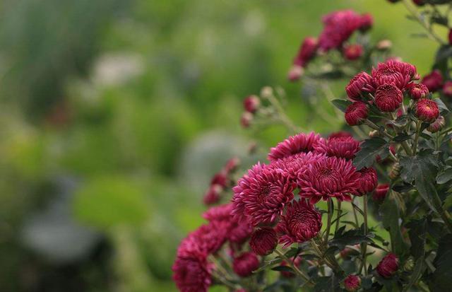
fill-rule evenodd
<path id="1" fill-rule="evenodd" d="M 350 201 L 350 194 L 357 194 L 359 173 L 350 160 L 328 157 L 309 165 L 298 175 L 300 196 L 309 198 L 311 204 L 335 197 Z"/>

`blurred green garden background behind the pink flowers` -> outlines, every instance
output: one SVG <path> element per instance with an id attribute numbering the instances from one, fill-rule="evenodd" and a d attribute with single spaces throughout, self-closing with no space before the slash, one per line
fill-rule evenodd
<path id="1" fill-rule="evenodd" d="M 429 71 L 435 44 L 383 0 L 1 1 L 0 291 L 175 291 L 210 176 L 287 135 L 241 129 L 244 96 L 282 86 L 304 129 L 341 127 L 286 80 L 340 8 Z"/>

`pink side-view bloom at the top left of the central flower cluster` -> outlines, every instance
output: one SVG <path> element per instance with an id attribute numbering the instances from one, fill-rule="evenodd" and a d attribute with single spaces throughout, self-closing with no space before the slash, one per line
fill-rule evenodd
<path id="1" fill-rule="evenodd" d="M 276 145 L 276 147 L 270 149 L 270 153 L 268 153 L 268 160 L 274 161 L 297 153 L 312 151 L 314 150 L 314 146 L 316 146 L 321 139 L 321 136 L 314 132 L 309 134 L 300 133 L 295 136 L 290 136 L 283 142 Z"/>

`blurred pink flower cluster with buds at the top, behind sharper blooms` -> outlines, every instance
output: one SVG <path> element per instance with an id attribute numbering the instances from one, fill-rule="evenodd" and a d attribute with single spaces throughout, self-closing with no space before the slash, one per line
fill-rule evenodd
<path id="1" fill-rule="evenodd" d="M 338 49 L 349 61 L 359 59 L 364 48 L 359 44 L 345 45 L 355 31 L 362 33 L 371 28 L 374 19 L 369 13 L 359 14 L 352 10 L 334 11 L 322 18 L 323 30 L 316 37 L 305 37 L 292 63 L 288 78 L 296 81 L 302 76 L 304 68 L 318 53 Z"/>

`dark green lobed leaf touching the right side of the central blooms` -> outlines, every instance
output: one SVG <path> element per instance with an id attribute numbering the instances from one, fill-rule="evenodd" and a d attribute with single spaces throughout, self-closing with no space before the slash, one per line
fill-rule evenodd
<path id="1" fill-rule="evenodd" d="M 356 154 L 355 159 L 353 159 L 353 164 L 360 170 L 361 168 L 368 168 L 374 163 L 377 155 L 381 159 L 385 159 L 388 156 L 389 144 L 383 138 L 373 137 L 371 139 L 366 139 L 361 144 L 361 150 Z"/>

